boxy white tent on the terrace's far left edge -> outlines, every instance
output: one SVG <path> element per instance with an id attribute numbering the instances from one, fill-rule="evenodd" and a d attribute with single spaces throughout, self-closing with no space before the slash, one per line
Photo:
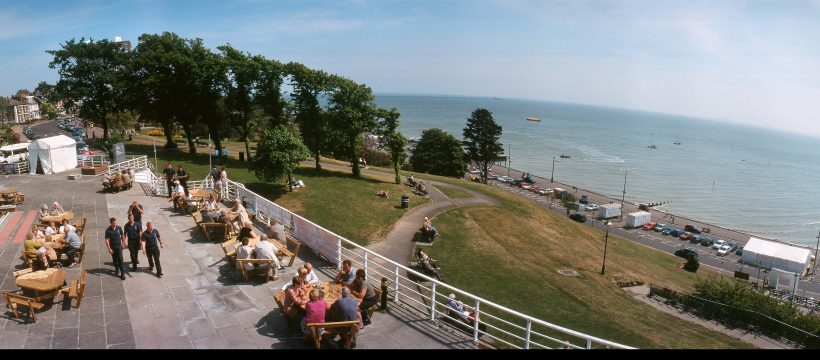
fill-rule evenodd
<path id="1" fill-rule="evenodd" d="M 37 162 L 44 174 L 56 174 L 77 167 L 77 142 L 57 135 L 34 140 L 28 147 L 29 173 L 37 172 Z"/>

